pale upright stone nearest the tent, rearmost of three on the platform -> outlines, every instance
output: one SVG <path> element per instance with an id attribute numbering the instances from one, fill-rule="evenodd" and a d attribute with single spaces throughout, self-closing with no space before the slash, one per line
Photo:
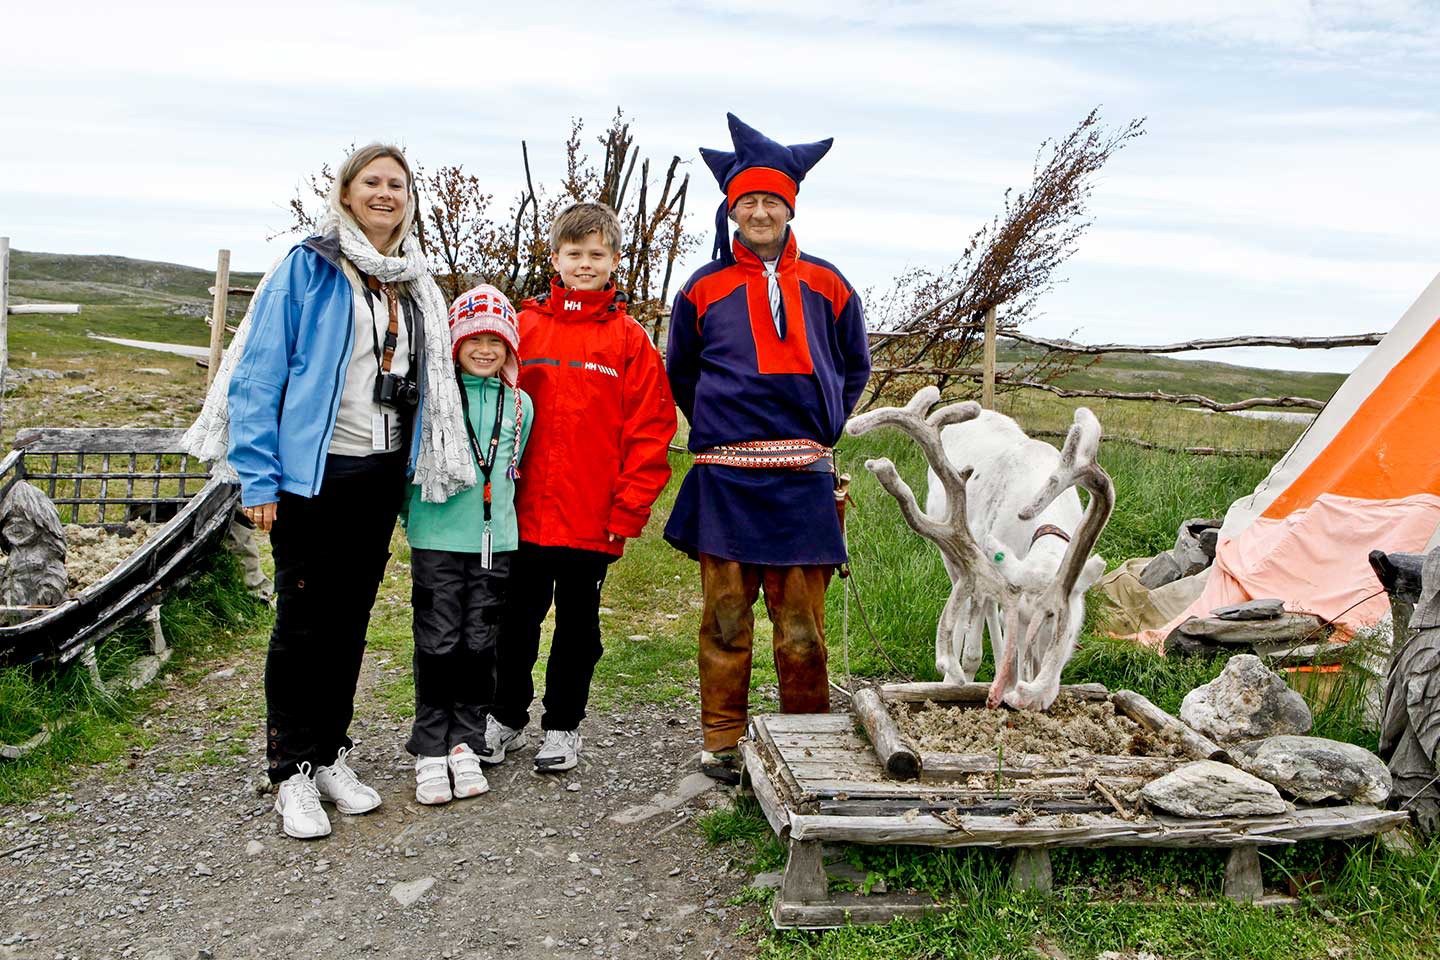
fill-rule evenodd
<path id="1" fill-rule="evenodd" d="M 1220 743 L 1303 734 L 1313 723 L 1305 698 L 1250 653 L 1231 656 L 1220 676 L 1185 694 L 1179 718 Z"/>

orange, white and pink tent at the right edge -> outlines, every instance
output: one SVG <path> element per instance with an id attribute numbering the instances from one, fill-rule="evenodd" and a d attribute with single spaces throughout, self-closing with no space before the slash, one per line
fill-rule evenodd
<path id="1" fill-rule="evenodd" d="M 1371 550 L 1440 541 L 1440 276 L 1280 458 L 1231 504 L 1205 589 L 1139 640 L 1159 646 L 1192 616 L 1256 597 L 1341 632 L 1385 620 Z"/>

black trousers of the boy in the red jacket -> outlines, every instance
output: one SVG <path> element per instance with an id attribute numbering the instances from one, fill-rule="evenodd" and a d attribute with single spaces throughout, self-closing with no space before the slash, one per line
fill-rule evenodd
<path id="1" fill-rule="evenodd" d="M 510 603 L 495 665 L 495 720 L 520 730 L 530 723 L 540 656 L 540 625 L 554 603 L 554 636 L 544 671 L 543 730 L 575 730 L 585 720 L 600 645 L 600 584 L 611 554 L 520 543 L 510 571 Z"/>

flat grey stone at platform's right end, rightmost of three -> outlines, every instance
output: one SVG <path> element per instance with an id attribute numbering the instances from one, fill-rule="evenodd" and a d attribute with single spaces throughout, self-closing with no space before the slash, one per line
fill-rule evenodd
<path id="1" fill-rule="evenodd" d="M 1241 769 L 1308 803 L 1390 799 L 1390 769 L 1364 747 L 1325 737 L 1267 737 L 1230 747 Z"/>

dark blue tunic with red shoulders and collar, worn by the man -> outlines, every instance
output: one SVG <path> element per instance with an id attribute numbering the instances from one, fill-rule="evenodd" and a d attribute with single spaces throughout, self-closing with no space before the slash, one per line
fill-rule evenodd
<path id="1" fill-rule="evenodd" d="M 789 232 L 776 272 L 785 335 L 770 318 L 765 265 L 739 237 L 675 295 L 665 366 L 690 420 L 690 449 L 808 439 L 834 446 L 870 379 L 860 296 Z M 690 556 L 766 566 L 840 564 L 845 544 L 829 474 L 697 463 L 665 540 Z"/>

